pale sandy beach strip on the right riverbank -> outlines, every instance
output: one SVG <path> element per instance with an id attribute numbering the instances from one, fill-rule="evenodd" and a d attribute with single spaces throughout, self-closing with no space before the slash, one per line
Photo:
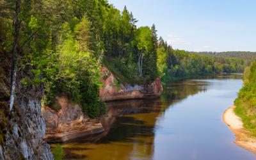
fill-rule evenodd
<path id="1" fill-rule="evenodd" d="M 228 125 L 230 130 L 236 135 L 234 143 L 240 147 L 250 150 L 256 154 L 256 138 L 243 127 L 243 122 L 239 116 L 234 113 L 236 106 L 231 106 L 223 113 L 223 122 Z"/>

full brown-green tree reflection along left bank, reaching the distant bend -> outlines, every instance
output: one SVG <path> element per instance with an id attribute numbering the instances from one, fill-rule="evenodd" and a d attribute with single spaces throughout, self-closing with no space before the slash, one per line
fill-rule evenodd
<path id="1" fill-rule="evenodd" d="M 228 78 L 230 77 L 216 79 Z M 189 95 L 206 92 L 208 86 L 207 81 L 187 80 L 166 87 L 159 99 L 108 102 L 108 115 L 101 118 L 105 131 L 66 148 L 66 153 L 70 154 L 68 158 L 97 157 L 95 152 L 102 150 L 108 153 L 115 152 L 113 159 L 131 159 L 132 156 L 152 157 L 157 117 L 161 116 L 166 108 L 186 99 Z M 90 148 L 88 141 L 92 141 L 92 145 L 97 147 Z M 77 147 L 79 152 L 73 152 L 77 151 Z"/>

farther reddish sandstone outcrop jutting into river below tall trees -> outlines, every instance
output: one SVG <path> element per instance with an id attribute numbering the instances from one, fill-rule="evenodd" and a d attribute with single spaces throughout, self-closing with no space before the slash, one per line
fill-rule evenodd
<path id="1" fill-rule="evenodd" d="M 118 83 L 118 79 L 109 72 L 108 68 L 102 67 L 100 81 L 104 87 L 100 88 L 100 99 L 103 101 L 124 99 L 145 99 L 159 97 L 163 92 L 161 80 L 157 78 L 153 83 L 147 85 L 134 85 Z"/>

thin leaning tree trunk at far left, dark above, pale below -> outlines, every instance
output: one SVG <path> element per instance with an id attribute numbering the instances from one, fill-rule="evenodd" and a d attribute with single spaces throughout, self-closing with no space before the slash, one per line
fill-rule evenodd
<path id="1" fill-rule="evenodd" d="M 12 79 L 11 79 L 12 84 L 11 84 L 11 96 L 10 96 L 10 111 L 13 108 L 13 103 L 15 99 L 17 56 L 18 56 L 17 43 L 18 43 L 19 31 L 20 31 L 19 13 L 20 13 L 20 0 L 16 0 L 15 17 L 13 20 L 14 36 L 13 36 L 13 46 L 12 46 Z"/>

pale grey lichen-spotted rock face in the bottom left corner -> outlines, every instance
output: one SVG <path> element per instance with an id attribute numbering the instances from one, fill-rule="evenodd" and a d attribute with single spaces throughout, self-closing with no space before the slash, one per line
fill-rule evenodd
<path id="1" fill-rule="evenodd" d="M 40 99 L 32 95 L 34 91 L 17 93 L 19 103 L 15 104 L 8 120 L 0 159 L 53 159 L 49 145 L 43 140 L 45 122 Z"/>

